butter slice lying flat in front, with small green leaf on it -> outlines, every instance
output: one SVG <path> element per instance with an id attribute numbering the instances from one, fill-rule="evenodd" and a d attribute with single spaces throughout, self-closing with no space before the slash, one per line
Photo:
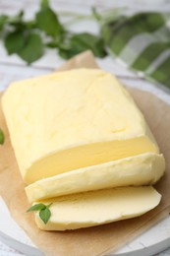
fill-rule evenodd
<path id="1" fill-rule="evenodd" d="M 42 202 L 53 203 L 51 217 L 47 224 L 43 224 L 37 213 L 35 222 L 44 230 L 108 224 L 141 216 L 156 207 L 160 199 L 161 195 L 151 186 L 86 192 Z"/>

